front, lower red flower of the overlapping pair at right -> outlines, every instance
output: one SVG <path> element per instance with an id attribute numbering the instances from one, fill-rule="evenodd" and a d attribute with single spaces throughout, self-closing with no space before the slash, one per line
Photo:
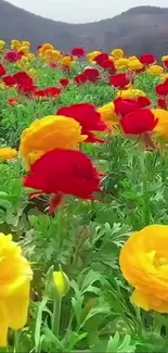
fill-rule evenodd
<path id="1" fill-rule="evenodd" d="M 120 124 L 126 135 L 141 135 L 152 131 L 157 122 L 154 114 L 148 109 L 144 109 L 124 116 Z"/>

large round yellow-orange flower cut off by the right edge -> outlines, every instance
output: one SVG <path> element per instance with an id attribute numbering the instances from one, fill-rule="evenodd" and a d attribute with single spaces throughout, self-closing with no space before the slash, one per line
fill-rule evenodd
<path id="1" fill-rule="evenodd" d="M 119 262 L 124 277 L 134 287 L 133 303 L 168 313 L 168 226 L 152 225 L 134 232 Z"/>

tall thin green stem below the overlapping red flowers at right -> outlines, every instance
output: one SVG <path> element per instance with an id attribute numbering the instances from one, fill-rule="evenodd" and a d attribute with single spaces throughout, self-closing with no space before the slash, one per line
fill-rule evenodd
<path id="1" fill-rule="evenodd" d="M 142 174 L 142 184 L 143 184 L 143 217 L 144 217 L 144 226 L 150 224 L 151 212 L 150 212 L 150 198 L 148 198 L 148 181 L 147 181 L 147 173 L 146 173 L 146 164 L 145 164 L 145 151 L 140 146 L 140 167 Z"/>

